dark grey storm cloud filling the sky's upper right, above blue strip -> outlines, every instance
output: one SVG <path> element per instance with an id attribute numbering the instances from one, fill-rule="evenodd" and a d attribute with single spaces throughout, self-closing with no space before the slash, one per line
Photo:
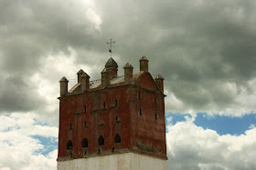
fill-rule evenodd
<path id="1" fill-rule="evenodd" d="M 186 109 L 240 105 L 234 102 L 240 91 L 231 92 L 229 84 L 250 92 L 248 83 L 256 77 L 254 1 L 112 1 L 103 6 L 102 27 L 112 26 L 107 31 L 122 41 L 118 53 L 132 61 L 145 54 L 151 73 L 164 75 L 165 89 Z"/>

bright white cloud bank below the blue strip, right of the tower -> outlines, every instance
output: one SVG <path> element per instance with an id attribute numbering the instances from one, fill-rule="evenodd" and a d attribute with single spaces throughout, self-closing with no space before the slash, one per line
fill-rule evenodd
<path id="1" fill-rule="evenodd" d="M 168 169 L 256 169 L 255 127 L 244 135 L 219 135 L 198 127 L 192 118 L 167 129 Z"/>

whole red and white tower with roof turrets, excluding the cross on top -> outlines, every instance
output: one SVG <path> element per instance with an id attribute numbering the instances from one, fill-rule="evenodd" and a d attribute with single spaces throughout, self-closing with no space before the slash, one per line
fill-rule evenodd
<path id="1" fill-rule="evenodd" d="M 58 169 L 166 169 L 164 78 L 153 79 L 145 56 L 139 73 L 123 69 L 117 76 L 110 58 L 99 80 L 80 69 L 69 91 L 59 81 Z"/>

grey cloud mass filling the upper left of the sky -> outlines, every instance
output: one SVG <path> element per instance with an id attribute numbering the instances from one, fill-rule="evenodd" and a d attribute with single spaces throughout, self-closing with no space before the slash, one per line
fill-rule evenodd
<path id="1" fill-rule="evenodd" d="M 91 49 L 97 32 L 77 7 L 71 1 L 1 2 L 1 113 L 35 110 L 40 108 L 38 103 L 46 105 L 37 94 L 37 84 L 29 85 L 28 81 L 47 65 L 42 58 L 59 51 L 69 55 L 69 46 Z"/>

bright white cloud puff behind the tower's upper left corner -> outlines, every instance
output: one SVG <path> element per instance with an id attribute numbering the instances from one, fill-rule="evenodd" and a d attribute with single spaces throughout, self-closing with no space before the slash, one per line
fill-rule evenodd
<path id="1" fill-rule="evenodd" d="M 89 65 L 78 65 L 76 51 L 69 48 L 69 55 L 59 51 L 49 54 L 41 59 L 42 65 L 37 73 L 28 80 L 30 84 L 37 85 L 38 97 L 43 98 L 46 104 L 37 113 L 37 119 L 48 121 L 51 125 L 59 123 L 59 80 L 66 76 L 69 80 L 69 89 L 77 84 L 77 72 L 82 68 L 91 75 L 92 68 Z"/>

